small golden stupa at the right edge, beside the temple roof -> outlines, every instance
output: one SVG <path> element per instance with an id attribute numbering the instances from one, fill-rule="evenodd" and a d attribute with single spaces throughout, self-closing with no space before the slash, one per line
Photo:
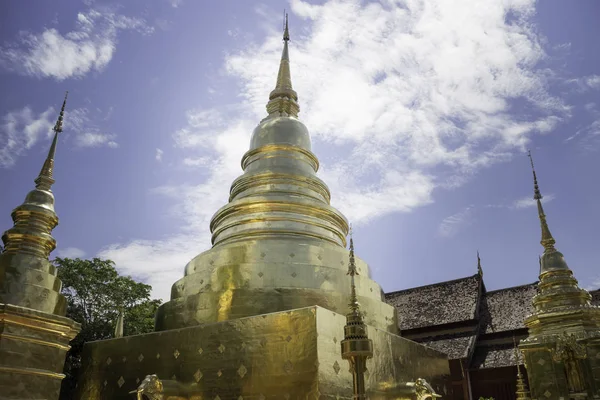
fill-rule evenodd
<path id="1" fill-rule="evenodd" d="M 564 256 L 554 247 L 535 169 L 533 179 L 544 254 L 534 313 L 525 319 L 529 336 L 519 346 L 525 355 L 531 397 L 598 398 L 600 308 L 590 304 L 590 294 L 579 288 Z"/>

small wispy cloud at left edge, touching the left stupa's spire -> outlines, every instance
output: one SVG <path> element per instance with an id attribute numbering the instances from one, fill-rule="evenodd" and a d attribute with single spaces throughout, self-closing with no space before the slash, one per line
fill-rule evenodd
<path id="1" fill-rule="evenodd" d="M 55 116 L 52 107 L 36 115 L 29 106 L 4 115 L 0 125 L 0 167 L 13 166 L 39 140 L 50 138 Z"/>

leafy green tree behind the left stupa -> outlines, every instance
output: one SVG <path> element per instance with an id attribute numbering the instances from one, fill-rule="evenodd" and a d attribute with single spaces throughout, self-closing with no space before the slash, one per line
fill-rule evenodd
<path id="1" fill-rule="evenodd" d="M 120 276 L 111 260 L 55 258 L 62 293 L 67 298 L 67 317 L 81 324 L 67 353 L 60 399 L 71 399 L 79 379 L 81 352 L 85 342 L 114 337 L 120 310 L 124 313 L 123 334 L 152 332 L 154 314 L 161 300 L 152 300 L 152 287 Z"/>

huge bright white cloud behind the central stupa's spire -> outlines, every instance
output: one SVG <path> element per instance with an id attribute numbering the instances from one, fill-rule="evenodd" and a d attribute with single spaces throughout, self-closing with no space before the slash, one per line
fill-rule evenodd
<path id="1" fill-rule="evenodd" d="M 431 202 L 434 188 L 463 184 L 569 116 L 547 92 L 548 71 L 537 68 L 546 54 L 528 20 L 533 0 L 293 0 L 292 11 L 310 24 L 302 33 L 291 27 L 300 117 L 319 146 L 319 176 L 333 205 L 355 225 Z M 265 116 L 281 54 L 279 24 L 271 25 L 264 42 L 225 59 L 241 84 L 240 103 L 191 111 L 173 135 L 176 146 L 193 151 L 183 163 L 206 172 L 198 185 L 156 191 L 173 196 L 182 232 L 100 253 L 128 274 L 143 273 L 162 298 L 190 258 L 209 247 L 209 220 L 226 203 L 252 129 Z M 221 92 L 214 83 L 211 89 Z M 511 107 L 515 99 L 525 106 Z M 467 223 L 472 207 L 462 213 L 444 220 L 440 234 Z"/>

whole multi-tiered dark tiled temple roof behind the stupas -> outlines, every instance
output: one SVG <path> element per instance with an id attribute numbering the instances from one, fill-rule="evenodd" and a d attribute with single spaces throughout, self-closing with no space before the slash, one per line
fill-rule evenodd
<path id="1" fill-rule="evenodd" d="M 515 365 L 512 340 L 506 344 L 478 345 L 478 335 L 514 335 L 525 329 L 525 317 L 533 312 L 537 282 L 486 292 L 479 275 L 385 294 L 388 304 L 398 311 L 401 332 L 432 328 L 408 337 L 448 355 L 449 359 L 471 358 L 472 368 L 498 368 Z M 590 291 L 592 304 L 600 305 L 600 290 Z M 448 333 L 451 323 L 479 321 L 479 332 Z M 436 333 L 437 331 L 437 333 Z M 421 332 L 421 331 L 420 331 Z"/>

